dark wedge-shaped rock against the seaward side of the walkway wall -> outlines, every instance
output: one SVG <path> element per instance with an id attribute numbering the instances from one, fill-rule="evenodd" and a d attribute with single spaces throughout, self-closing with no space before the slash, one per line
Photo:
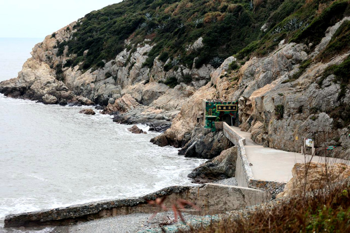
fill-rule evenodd
<path id="1" fill-rule="evenodd" d="M 193 183 L 204 184 L 215 180 L 234 177 L 236 171 L 237 147 L 231 147 L 214 159 L 194 168 L 188 175 Z"/>

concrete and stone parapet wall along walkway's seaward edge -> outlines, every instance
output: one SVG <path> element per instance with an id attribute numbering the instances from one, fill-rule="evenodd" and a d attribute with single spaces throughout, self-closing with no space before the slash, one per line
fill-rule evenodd
<path id="1" fill-rule="evenodd" d="M 235 178 L 238 186 L 268 191 L 273 197 L 276 192 L 281 192 L 284 189 L 285 183 L 256 180 L 245 152 L 245 138 L 241 137 L 225 122 L 223 123 L 223 132 L 224 135 L 238 147 L 235 171 Z"/>

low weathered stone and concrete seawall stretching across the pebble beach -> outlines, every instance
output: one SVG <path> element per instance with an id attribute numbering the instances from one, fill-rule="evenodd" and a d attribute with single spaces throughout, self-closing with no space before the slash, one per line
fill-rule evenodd
<path id="1" fill-rule="evenodd" d="M 160 210 L 159 207 L 147 204 L 147 200 L 155 200 L 159 197 L 166 197 L 164 204 L 169 208 L 172 203 L 181 198 L 194 203 L 201 209 L 201 211 L 185 209 L 184 212 L 216 214 L 266 202 L 271 195 L 256 189 L 215 184 L 174 186 L 140 198 L 91 202 L 66 208 L 8 215 L 5 218 L 5 227 L 67 225 L 130 213 L 154 213 Z"/>

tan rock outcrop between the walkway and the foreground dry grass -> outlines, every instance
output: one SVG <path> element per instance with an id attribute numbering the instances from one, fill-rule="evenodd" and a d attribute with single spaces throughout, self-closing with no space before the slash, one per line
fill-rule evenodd
<path id="1" fill-rule="evenodd" d="M 350 166 L 343 163 L 326 165 L 325 163 L 311 162 L 308 167 L 308 164 L 296 163 L 292 169 L 292 175 L 293 178 L 277 197 L 290 197 L 304 193 L 304 188 L 307 192 L 311 192 L 326 187 L 328 184 L 341 182 L 350 177 Z"/>

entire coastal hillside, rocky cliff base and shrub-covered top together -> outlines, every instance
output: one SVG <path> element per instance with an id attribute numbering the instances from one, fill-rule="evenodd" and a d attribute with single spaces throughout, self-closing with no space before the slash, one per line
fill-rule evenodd
<path id="1" fill-rule="evenodd" d="M 183 147 L 202 99 L 239 100 L 241 128 L 267 147 L 350 154 L 349 1 L 125 0 L 33 48 L 0 92 L 47 104 L 107 106 Z"/>

